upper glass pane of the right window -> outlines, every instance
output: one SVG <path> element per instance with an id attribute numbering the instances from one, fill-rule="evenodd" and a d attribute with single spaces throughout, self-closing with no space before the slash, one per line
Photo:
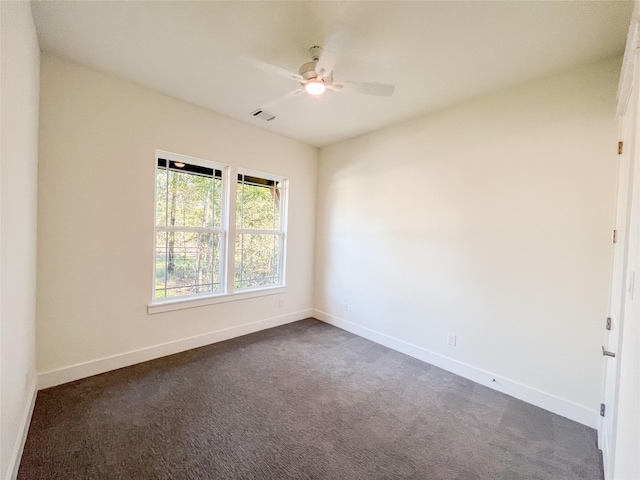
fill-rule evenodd
<path id="1" fill-rule="evenodd" d="M 274 182 L 270 182 L 274 183 Z M 239 183 L 236 225 L 241 229 L 280 229 L 280 186 Z"/>

